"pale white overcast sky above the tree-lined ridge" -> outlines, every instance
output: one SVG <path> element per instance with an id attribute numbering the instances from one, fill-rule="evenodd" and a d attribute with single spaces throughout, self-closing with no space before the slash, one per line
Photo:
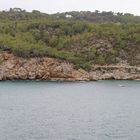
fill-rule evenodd
<path id="1" fill-rule="evenodd" d="M 64 11 L 114 11 L 140 15 L 140 0 L 0 0 L 0 10 L 20 7 L 46 13 Z"/>

